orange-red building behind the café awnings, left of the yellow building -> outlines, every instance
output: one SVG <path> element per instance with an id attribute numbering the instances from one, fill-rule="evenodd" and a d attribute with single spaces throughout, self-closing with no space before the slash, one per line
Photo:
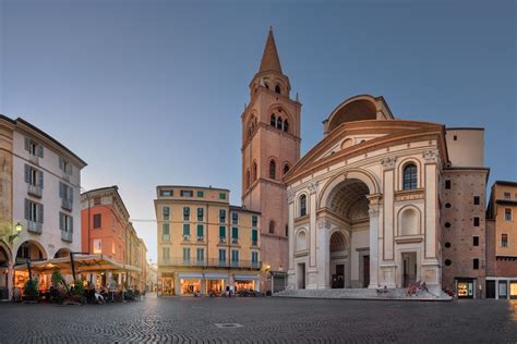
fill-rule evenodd
<path id="1" fill-rule="evenodd" d="M 142 254 L 147 249 L 136 236 L 130 214 L 120 197 L 118 186 L 89 191 L 81 195 L 82 251 L 105 255 L 124 267 L 124 272 L 112 275 L 117 283 L 127 283 L 133 290 L 145 288 Z M 142 247 L 141 247 L 142 246 Z M 98 283 L 105 283 L 98 278 Z"/>

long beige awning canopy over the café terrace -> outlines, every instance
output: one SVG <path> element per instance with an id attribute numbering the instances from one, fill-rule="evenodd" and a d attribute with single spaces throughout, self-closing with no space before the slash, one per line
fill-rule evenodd
<path id="1" fill-rule="evenodd" d="M 76 273 L 100 272 L 107 270 L 112 272 L 124 272 L 128 270 L 139 272 L 141 271 L 140 268 L 121 265 L 104 255 L 74 255 L 73 260 Z M 61 271 L 61 273 L 72 273 L 70 256 L 31 262 L 31 270 L 33 272 L 51 273 L 55 269 L 58 269 L 59 271 Z M 24 263 L 15 266 L 14 270 L 27 271 L 28 268 L 27 265 Z"/>

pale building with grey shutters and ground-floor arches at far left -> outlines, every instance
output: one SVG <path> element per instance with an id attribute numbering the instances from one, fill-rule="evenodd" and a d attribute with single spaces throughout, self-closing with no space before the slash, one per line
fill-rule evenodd
<path id="1" fill-rule="evenodd" d="M 0 260 L 8 270 L 0 287 L 12 292 L 23 284 L 22 277 L 13 278 L 13 266 L 81 251 L 81 170 L 86 163 L 22 119 L 0 116 Z"/>

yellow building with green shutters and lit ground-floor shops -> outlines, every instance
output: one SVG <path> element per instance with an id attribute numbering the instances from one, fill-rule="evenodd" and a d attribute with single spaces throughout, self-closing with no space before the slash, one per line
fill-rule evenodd
<path id="1" fill-rule="evenodd" d="M 230 206 L 228 189 L 156 191 L 160 295 L 260 291 L 260 212 Z"/>

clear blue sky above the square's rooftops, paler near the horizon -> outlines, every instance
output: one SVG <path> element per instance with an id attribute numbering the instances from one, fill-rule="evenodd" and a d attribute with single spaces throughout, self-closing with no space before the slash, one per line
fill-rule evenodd
<path id="1" fill-rule="evenodd" d="M 368 93 L 401 119 L 485 127 L 490 183 L 517 180 L 515 1 L 277 2 L 1 1 L 0 113 L 86 160 L 86 189 L 119 185 L 134 219 L 155 218 L 158 184 L 240 204 L 240 114 L 272 25 L 302 153 Z M 135 226 L 156 261 L 156 225 Z"/>

